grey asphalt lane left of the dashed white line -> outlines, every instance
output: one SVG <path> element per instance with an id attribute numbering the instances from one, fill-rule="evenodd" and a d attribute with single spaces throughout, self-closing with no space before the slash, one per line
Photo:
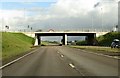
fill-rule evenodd
<path id="1" fill-rule="evenodd" d="M 71 68 L 55 47 L 40 47 L 35 53 L 5 67 L 3 76 L 81 76 Z"/>

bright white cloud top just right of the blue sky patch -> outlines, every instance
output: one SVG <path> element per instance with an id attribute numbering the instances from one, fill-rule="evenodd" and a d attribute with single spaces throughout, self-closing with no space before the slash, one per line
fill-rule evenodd
<path id="1" fill-rule="evenodd" d="M 59 0 L 52 8 L 52 13 L 65 16 L 86 15 L 93 8 L 95 0 Z"/>

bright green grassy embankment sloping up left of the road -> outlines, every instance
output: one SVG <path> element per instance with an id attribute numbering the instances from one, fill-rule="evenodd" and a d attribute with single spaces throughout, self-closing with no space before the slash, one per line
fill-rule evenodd
<path id="1" fill-rule="evenodd" d="M 2 32 L 2 61 L 7 62 L 31 50 L 34 39 L 22 33 Z"/>

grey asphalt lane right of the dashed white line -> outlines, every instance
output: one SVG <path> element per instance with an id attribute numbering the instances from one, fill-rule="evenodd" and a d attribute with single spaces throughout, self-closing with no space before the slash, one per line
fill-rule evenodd
<path id="1" fill-rule="evenodd" d="M 56 47 L 85 76 L 118 76 L 118 59 L 109 58 L 76 48 Z"/>

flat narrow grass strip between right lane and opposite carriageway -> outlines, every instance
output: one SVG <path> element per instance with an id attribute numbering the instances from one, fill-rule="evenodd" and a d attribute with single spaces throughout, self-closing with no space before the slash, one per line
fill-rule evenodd
<path id="1" fill-rule="evenodd" d="M 120 49 L 111 49 L 110 47 L 100 47 L 100 46 L 70 46 L 72 48 L 91 50 L 94 52 L 120 52 Z"/>

